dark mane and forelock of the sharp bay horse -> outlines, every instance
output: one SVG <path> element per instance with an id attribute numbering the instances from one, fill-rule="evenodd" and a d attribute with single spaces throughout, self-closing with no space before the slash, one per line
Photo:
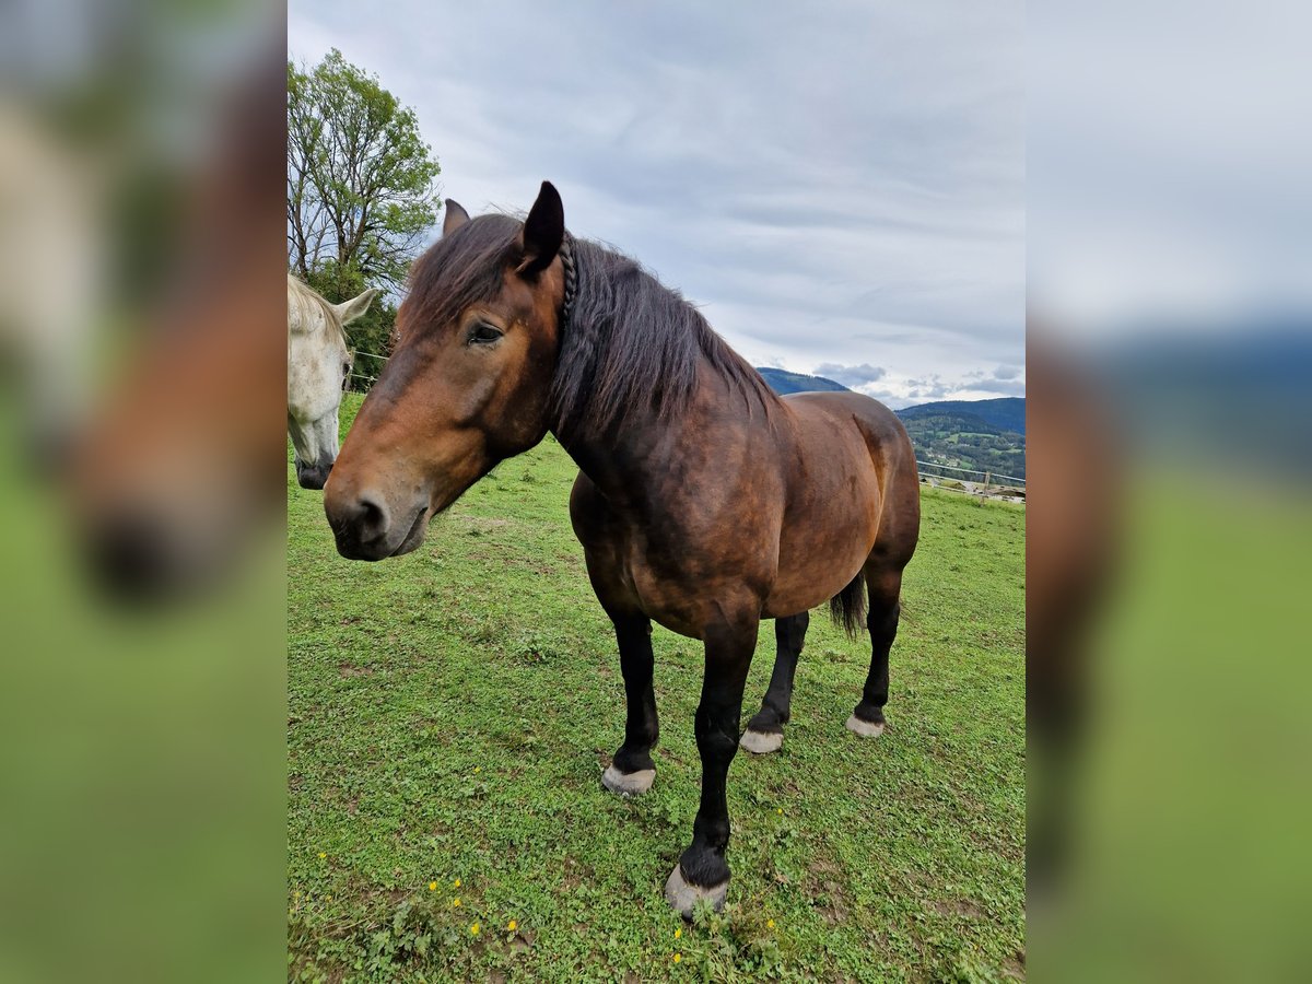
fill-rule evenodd
<path id="1" fill-rule="evenodd" d="M 407 320 L 447 324 L 491 300 L 522 223 L 480 215 L 438 240 L 411 274 Z M 779 398 L 707 324 L 701 311 L 636 261 L 600 243 L 567 239 L 577 294 L 551 384 L 551 429 L 598 436 L 634 412 L 677 420 L 697 387 L 699 357 L 747 403 L 769 415 Z"/>

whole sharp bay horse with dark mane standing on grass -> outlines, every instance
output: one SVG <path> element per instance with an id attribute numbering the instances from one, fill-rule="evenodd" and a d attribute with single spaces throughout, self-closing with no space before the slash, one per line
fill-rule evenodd
<path id="1" fill-rule="evenodd" d="M 920 533 L 907 432 L 854 392 L 774 395 L 677 293 L 565 231 L 550 182 L 523 222 L 447 202 L 412 272 L 395 352 L 324 488 L 338 552 L 382 560 L 551 432 L 579 464 L 569 516 L 614 623 L 625 740 L 605 787 L 651 789 L 659 736 L 651 626 L 705 643 L 693 842 L 665 886 L 684 916 L 728 888 L 726 777 L 761 619 L 778 646 L 741 744 L 781 747 L 808 611 L 871 639 L 848 728 L 884 727 L 903 568 Z M 863 590 L 865 589 L 865 590 Z"/>

